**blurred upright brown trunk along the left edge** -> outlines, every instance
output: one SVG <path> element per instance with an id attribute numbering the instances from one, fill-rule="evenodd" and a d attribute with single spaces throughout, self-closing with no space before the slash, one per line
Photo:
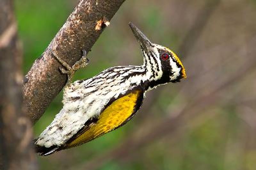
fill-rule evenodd
<path id="1" fill-rule="evenodd" d="M 36 169 L 32 129 L 22 107 L 21 50 L 13 4 L 0 1 L 0 169 Z"/>

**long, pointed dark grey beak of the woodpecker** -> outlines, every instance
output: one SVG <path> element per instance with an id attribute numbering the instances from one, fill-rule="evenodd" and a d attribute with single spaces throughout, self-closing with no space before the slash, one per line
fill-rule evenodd
<path id="1" fill-rule="evenodd" d="M 134 36 L 136 37 L 137 41 L 140 43 L 142 50 L 150 51 L 150 49 L 152 49 L 153 45 L 149 41 L 149 39 L 139 30 L 139 28 L 137 28 L 131 22 L 129 23 L 129 26 L 131 27 L 132 32 L 133 32 Z"/>

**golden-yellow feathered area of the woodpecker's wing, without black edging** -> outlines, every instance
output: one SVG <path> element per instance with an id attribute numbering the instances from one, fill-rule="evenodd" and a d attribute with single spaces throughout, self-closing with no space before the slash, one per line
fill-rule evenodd
<path id="1" fill-rule="evenodd" d="M 132 115 L 139 95 L 140 91 L 135 90 L 114 101 L 100 114 L 99 120 L 90 126 L 82 135 L 69 143 L 67 148 L 91 141 L 92 139 L 119 127 Z"/>

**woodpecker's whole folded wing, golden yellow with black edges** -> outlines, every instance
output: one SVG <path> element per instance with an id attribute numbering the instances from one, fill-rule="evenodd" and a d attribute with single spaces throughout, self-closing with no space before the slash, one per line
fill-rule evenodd
<path id="1" fill-rule="evenodd" d="M 125 96 L 118 98 L 110 103 L 96 121 L 85 125 L 60 150 L 89 142 L 124 125 L 139 110 L 142 100 L 143 91 L 141 89 L 132 90 Z"/>

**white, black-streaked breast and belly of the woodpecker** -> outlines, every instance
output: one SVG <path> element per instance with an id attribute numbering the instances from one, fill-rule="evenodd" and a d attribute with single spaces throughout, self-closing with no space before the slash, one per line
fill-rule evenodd
<path id="1" fill-rule="evenodd" d="M 119 66 L 83 81 L 75 81 L 63 94 L 63 108 L 41 133 L 36 145 L 61 146 L 87 121 L 98 117 L 110 100 L 140 85 L 142 66 Z"/>

